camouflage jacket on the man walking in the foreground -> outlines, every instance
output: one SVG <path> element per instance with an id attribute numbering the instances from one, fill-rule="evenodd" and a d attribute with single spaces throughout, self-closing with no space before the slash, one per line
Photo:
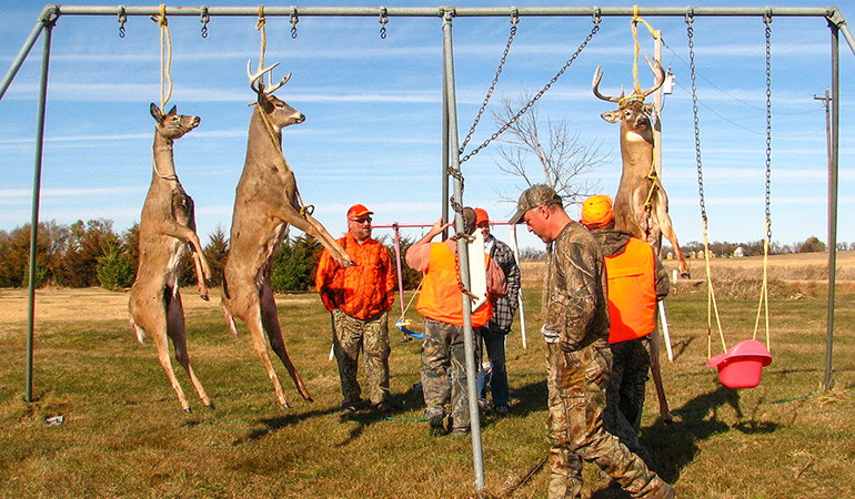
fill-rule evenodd
<path id="1" fill-rule="evenodd" d="M 559 332 L 565 352 L 608 338 L 603 251 L 587 230 L 570 222 L 547 248 L 544 327 Z"/>

